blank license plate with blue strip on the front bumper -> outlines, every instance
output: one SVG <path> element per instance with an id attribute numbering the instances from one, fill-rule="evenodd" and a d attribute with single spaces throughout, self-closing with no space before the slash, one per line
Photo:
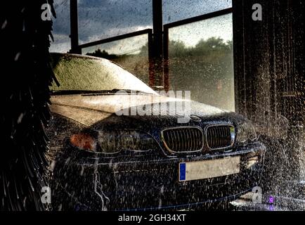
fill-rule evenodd
<path id="1" fill-rule="evenodd" d="M 240 172 L 240 157 L 179 163 L 179 181 L 194 181 Z"/>

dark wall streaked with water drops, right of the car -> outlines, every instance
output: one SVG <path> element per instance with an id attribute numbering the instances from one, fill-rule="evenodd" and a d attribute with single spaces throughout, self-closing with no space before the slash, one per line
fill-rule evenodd
<path id="1" fill-rule="evenodd" d="M 304 179 L 303 21 L 301 0 L 233 1 L 235 108 L 254 121 L 285 180 Z"/>

